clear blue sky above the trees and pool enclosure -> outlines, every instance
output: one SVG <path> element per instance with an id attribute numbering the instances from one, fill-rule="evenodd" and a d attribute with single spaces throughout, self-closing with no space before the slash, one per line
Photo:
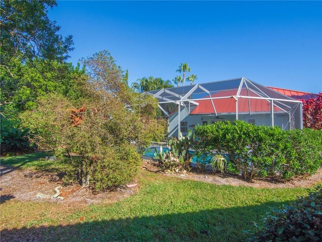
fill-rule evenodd
<path id="1" fill-rule="evenodd" d="M 173 80 L 187 62 L 195 83 L 246 77 L 322 91 L 322 1 L 57 3 L 48 16 L 73 36 L 69 61 L 106 49 L 128 69 L 129 84 Z"/>

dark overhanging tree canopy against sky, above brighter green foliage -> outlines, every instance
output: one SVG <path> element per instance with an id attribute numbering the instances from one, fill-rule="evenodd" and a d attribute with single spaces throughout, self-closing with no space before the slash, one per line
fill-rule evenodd
<path id="1" fill-rule="evenodd" d="M 55 21 L 50 21 L 48 8 L 56 1 L 15 1 L 0 2 L 1 26 L 1 67 L 11 76 L 11 60 L 22 62 L 35 57 L 64 61 L 72 50 L 72 36 L 63 38 Z"/>

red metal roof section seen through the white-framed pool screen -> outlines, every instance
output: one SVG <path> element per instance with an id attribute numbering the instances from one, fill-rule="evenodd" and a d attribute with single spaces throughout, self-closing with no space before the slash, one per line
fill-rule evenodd
<path id="1" fill-rule="evenodd" d="M 226 90 L 217 92 L 211 97 L 225 97 L 234 96 L 237 93 L 237 89 Z M 241 89 L 241 96 L 258 97 L 258 94 L 246 88 Z M 213 114 L 214 109 L 211 104 L 211 100 L 198 100 L 199 105 L 191 112 L 191 114 Z M 235 113 L 236 112 L 236 100 L 233 97 L 213 99 L 214 106 L 217 113 Z M 251 110 L 250 110 L 251 109 Z M 269 112 L 271 110 L 271 103 L 263 99 L 238 99 L 238 112 Z M 274 106 L 274 111 L 281 111 L 278 107 Z"/>

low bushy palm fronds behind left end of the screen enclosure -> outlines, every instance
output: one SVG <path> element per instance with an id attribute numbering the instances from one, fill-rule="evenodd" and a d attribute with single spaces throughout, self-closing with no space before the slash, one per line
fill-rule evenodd
<path id="1" fill-rule="evenodd" d="M 162 88 L 173 87 L 170 80 L 163 80 L 162 78 L 143 77 L 132 83 L 132 88 L 137 92 L 145 92 L 151 90 L 157 90 Z"/>

